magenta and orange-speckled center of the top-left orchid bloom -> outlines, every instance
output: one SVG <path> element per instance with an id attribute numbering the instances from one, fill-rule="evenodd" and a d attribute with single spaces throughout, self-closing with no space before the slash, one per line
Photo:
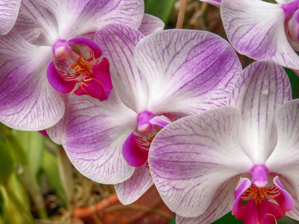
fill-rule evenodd
<path id="1" fill-rule="evenodd" d="M 47 79 L 56 91 L 68 93 L 81 82 L 76 95 L 107 100 L 112 89 L 109 62 L 99 62 L 102 51 L 96 42 L 84 37 L 58 40 L 52 49 L 55 60 L 48 65 Z"/>

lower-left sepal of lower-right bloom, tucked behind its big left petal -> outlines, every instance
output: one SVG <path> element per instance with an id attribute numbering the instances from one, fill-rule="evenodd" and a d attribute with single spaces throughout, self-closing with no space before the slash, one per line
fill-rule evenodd
<path id="1" fill-rule="evenodd" d="M 211 224 L 232 210 L 234 190 L 239 177 L 229 179 L 223 183 L 214 194 L 212 204 L 200 216 L 185 218 L 177 215 L 176 224 Z"/>

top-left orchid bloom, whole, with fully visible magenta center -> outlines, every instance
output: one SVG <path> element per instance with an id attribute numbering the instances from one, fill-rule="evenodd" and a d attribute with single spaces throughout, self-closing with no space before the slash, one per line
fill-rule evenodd
<path id="1" fill-rule="evenodd" d="M 0 36 L 0 121 L 42 130 L 64 115 L 75 94 L 106 100 L 112 88 L 107 59 L 93 38 L 106 23 L 138 28 L 143 0 L 22 0 L 13 30 Z M 89 96 L 89 97 L 90 97 Z"/>

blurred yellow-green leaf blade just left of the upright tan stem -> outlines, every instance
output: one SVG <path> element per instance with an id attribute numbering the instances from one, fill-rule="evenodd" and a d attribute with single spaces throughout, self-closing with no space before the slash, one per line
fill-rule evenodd
<path id="1" fill-rule="evenodd" d="M 60 196 L 60 199 L 63 201 L 64 205 L 66 205 L 67 198 L 60 179 L 57 158 L 47 150 L 43 151 L 42 170 L 47 176 L 52 187 L 54 187 L 55 191 Z"/>

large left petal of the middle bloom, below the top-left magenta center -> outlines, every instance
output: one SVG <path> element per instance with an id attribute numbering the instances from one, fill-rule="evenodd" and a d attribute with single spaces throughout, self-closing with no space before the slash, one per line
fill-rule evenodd
<path id="1" fill-rule="evenodd" d="M 137 126 L 137 115 L 112 90 L 107 101 L 70 95 L 62 145 L 74 166 L 89 179 L 106 184 L 126 181 L 134 171 L 122 145 Z"/>

